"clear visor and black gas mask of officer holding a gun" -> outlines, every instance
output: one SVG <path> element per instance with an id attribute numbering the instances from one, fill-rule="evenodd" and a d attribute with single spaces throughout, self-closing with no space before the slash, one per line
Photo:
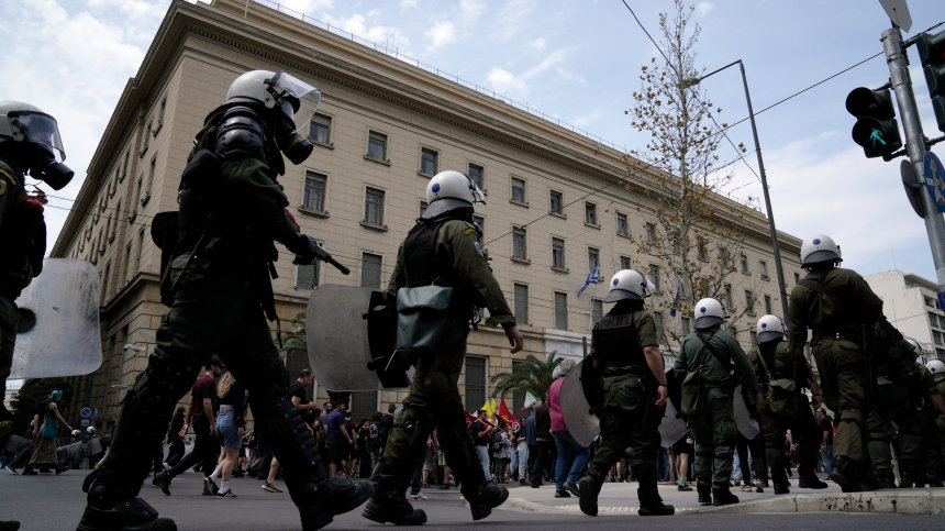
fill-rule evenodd
<path id="1" fill-rule="evenodd" d="M 299 133 L 299 130 L 311 122 L 322 95 L 316 88 L 285 71 L 267 80 L 266 90 L 276 100 L 276 145 L 292 164 L 302 164 L 312 154 L 314 146 Z M 312 113 L 307 115 L 301 125 L 297 125 L 294 118 L 302 108 L 302 103 L 305 103 L 307 108 L 311 107 Z"/>

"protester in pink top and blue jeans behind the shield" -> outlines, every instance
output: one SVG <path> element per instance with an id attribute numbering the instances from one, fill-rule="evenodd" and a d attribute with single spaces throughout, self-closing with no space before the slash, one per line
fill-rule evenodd
<path id="1" fill-rule="evenodd" d="M 575 367 L 574 359 L 565 359 L 558 365 L 555 372 L 558 378 L 552 384 L 548 389 L 548 408 L 552 418 L 552 436 L 555 440 L 557 449 L 557 463 L 555 465 L 555 498 L 569 498 L 571 495 L 580 497 L 578 493 L 578 479 L 587 468 L 590 449 L 582 446 L 575 441 L 565 424 L 565 418 L 562 416 L 560 391 L 562 384 L 565 381 L 565 376 Z M 568 469 L 568 463 L 574 463 Z"/>

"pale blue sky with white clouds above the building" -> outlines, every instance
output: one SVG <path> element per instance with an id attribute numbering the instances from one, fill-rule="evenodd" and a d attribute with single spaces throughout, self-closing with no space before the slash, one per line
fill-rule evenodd
<path id="1" fill-rule="evenodd" d="M 144 58 L 169 0 L 18 0 L 0 2 L 0 100 L 22 100 L 59 122 L 76 178 L 51 192 L 48 240 L 58 232 L 85 179 L 98 142 L 125 87 Z M 267 4 L 265 0 L 262 3 Z M 629 148 L 647 134 L 624 110 L 640 88 L 640 69 L 662 56 L 621 0 L 281 0 L 307 18 L 330 23 L 463 79 L 527 102 Z M 670 0 L 627 0 L 658 38 L 659 13 Z M 742 59 L 756 111 L 882 51 L 890 27 L 876 0 L 791 2 L 693 1 L 702 31 L 697 66 L 714 70 Z M 938 5 L 938 8 L 935 8 Z M 909 0 L 908 38 L 945 21 L 941 0 Z M 938 27 L 935 31 L 943 31 Z M 941 135 L 915 47 L 909 49 L 925 135 Z M 893 267 L 935 279 L 922 219 L 905 198 L 899 161 L 867 159 L 850 139 L 855 119 L 847 93 L 887 81 L 876 57 L 756 117 L 780 231 L 799 237 L 825 233 L 842 246 L 844 265 L 863 275 Z M 748 115 L 737 67 L 702 87 L 720 122 Z M 729 131 L 752 150 L 748 122 Z M 903 136 L 904 137 L 904 136 Z M 933 147 L 945 157 L 945 144 Z M 724 142 L 722 161 L 737 158 Z M 755 155 L 732 166 L 733 196 L 761 195 Z M 751 168 L 754 168 L 754 173 Z M 49 190 L 46 190 L 49 192 Z M 761 206 L 764 208 L 764 206 Z"/>

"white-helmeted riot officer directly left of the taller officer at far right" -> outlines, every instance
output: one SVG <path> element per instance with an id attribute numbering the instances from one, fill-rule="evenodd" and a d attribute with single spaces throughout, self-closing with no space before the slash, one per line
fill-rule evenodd
<path id="1" fill-rule="evenodd" d="M 764 316 L 756 327 L 758 345 L 748 351 L 761 396 L 757 409 L 761 434 L 765 438 L 765 457 L 771 467 L 775 494 L 788 494 L 788 475 L 785 466 L 785 433 L 790 430 L 798 444 L 798 486 L 826 488 L 818 478 L 816 454 L 821 439 L 816 420 L 811 412 L 802 386 L 810 387 L 814 407 L 820 407 L 820 394 L 807 359 L 792 358 L 785 339 L 785 323 L 777 316 Z"/>

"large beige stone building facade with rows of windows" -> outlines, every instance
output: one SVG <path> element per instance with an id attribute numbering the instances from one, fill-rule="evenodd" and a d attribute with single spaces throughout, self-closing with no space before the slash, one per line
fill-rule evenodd
<path id="1" fill-rule="evenodd" d="M 298 268 L 280 246 L 274 287 L 284 332 L 319 284 L 387 285 L 398 246 L 425 207 L 430 177 L 445 169 L 472 175 L 487 193 L 487 204 L 476 207 L 485 247 L 525 338 L 524 351 L 512 355 L 501 331 L 470 334 L 459 380 L 470 411 L 491 395 L 491 376 L 530 354 L 581 356 L 592 319 L 605 311 L 600 299 L 607 280 L 618 269 L 629 265 L 649 274 L 659 267 L 633 240 L 653 220 L 638 191 L 646 175 L 631 176 L 625 154 L 373 47 L 256 2 L 246 5 L 171 2 L 52 252 L 91 261 L 101 274 L 103 363 L 93 375 L 75 378 L 76 396 L 85 400 L 71 409 L 99 408 L 105 431 L 124 389 L 145 368 L 167 311 L 158 297 L 159 250 L 151 220 L 177 210 L 194 134 L 247 70 L 286 70 L 321 90 L 309 131 L 314 152 L 279 182 L 302 232 L 352 269 L 343 276 L 332 267 Z M 597 191 L 608 184 L 616 186 Z M 747 347 L 745 323 L 768 311 L 780 314 L 781 306 L 767 221 L 748 209 L 742 223 L 745 257 L 734 258 L 737 270 L 726 283 L 734 294 L 730 306 L 747 310 L 738 324 Z M 801 274 L 800 240 L 779 237 L 790 289 Z M 601 285 L 577 297 L 594 264 Z M 664 289 L 675 289 L 670 276 L 662 274 L 671 285 Z M 682 317 L 663 318 L 665 327 L 687 325 Z M 671 347 L 666 352 L 671 359 Z M 304 364 L 287 361 L 290 369 Z M 321 388 L 318 395 L 320 401 L 327 396 Z M 359 414 L 402 398 L 402 391 L 382 391 L 353 400 Z M 522 400 L 507 398 L 510 407 L 511 399 Z"/>

